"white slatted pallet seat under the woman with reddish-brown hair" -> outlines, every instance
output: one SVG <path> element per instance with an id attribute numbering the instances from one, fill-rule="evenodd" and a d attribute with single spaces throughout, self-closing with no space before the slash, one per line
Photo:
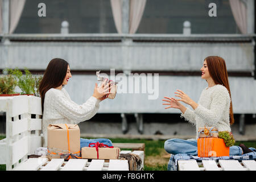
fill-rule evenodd
<path id="1" fill-rule="evenodd" d="M 255 160 L 242 160 L 239 162 L 234 159 L 220 159 L 215 160 L 178 160 L 177 168 L 179 171 L 256 171 Z"/>

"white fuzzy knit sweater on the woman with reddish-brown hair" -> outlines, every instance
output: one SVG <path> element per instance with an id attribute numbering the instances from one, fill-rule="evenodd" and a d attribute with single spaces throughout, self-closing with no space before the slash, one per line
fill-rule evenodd
<path id="1" fill-rule="evenodd" d="M 201 92 L 195 110 L 187 107 L 181 118 L 196 126 L 196 138 L 199 127 L 217 127 L 218 131 L 231 131 L 229 123 L 230 96 L 225 86 L 214 85 Z"/>

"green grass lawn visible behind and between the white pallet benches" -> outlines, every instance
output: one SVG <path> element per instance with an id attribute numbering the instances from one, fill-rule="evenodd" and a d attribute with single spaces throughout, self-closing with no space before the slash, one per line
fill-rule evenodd
<path id="1" fill-rule="evenodd" d="M 1 137 L 3 139 L 5 137 Z M 164 150 L 165 140 L 123 139 L 109 138 L 113 143 L 145 143 L 144 171 L 166 171 L 170 154 Z M 244 143 L 247 147 L 256 148 L 256 141 L 236 142 L 235 145 Z M 127 148 L 129 149 L 129 148 Z M 5 170 L 5 165 L 0 165 L 0 170 Z"/>

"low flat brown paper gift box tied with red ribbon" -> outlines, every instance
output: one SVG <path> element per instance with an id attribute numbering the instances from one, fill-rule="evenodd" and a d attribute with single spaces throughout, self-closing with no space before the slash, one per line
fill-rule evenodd
<path id="1" fill-rule="evenodd" d="M 118 159 L 120 148 L 113 147 L 98 148 L 98 156 L 96 147 L 82 147 L 81 154 L 82 159 Z"/>

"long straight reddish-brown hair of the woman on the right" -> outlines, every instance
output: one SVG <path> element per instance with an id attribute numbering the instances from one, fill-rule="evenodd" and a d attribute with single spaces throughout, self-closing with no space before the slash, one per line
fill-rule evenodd
<path id="1" fill-rule="evenodd" d="M 214 83 L 225 86 L 225 88 L 229 92 L 229 96 L 230 96 L 229 123 L 230 125 L 232 125 L 234 123 L 234 115 L 233 115 L 231 93 L 229 88 L 228 71 L 226 70 L 225 60 L 219 56 L 208 56 L 207 58 L 205 58 L 205 60 L 207 61 L 209 74 L 213 78 Z"/>

